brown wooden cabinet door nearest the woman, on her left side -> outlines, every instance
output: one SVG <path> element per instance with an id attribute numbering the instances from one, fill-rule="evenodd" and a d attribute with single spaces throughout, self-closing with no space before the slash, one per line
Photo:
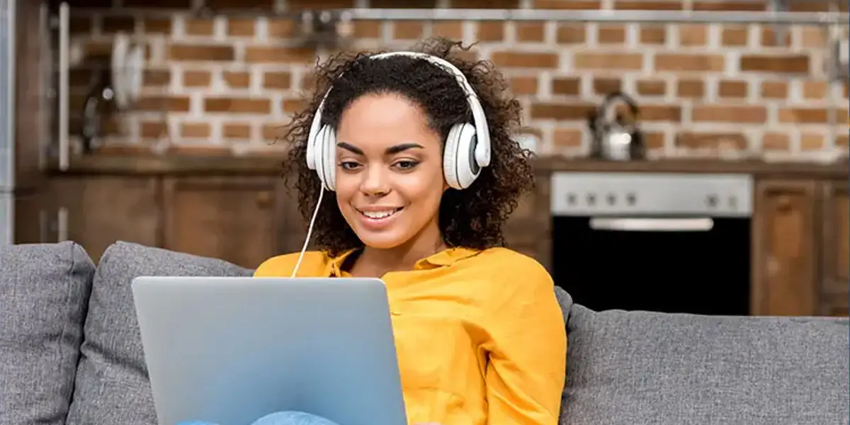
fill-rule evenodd
<path id="1" fill-rule="evenodd" d="M 162 246 L 256 268 L 277 253 L 277 178 L 165 178 Z"/>

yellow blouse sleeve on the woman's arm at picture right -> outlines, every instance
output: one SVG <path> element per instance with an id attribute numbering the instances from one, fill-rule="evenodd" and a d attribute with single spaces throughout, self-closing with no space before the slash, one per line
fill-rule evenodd
<path id="1" fill-rule="evenodd" d="M 488 423 L 557 425 L 564 391 L 567 335 L 552 277 L 530 258 L 494 297 L 490 322 Z M 530 264 L 528 264 L 530 263 Z M 500 268 L 501 269 L 501 268 Z"/>

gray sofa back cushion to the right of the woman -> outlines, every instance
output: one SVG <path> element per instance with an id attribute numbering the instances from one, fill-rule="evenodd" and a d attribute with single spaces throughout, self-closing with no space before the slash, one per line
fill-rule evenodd
<path id="1" fill-rule="evenodd" d="M 570 309 L 570 425 L 847 423 L 847 319 Z"/>

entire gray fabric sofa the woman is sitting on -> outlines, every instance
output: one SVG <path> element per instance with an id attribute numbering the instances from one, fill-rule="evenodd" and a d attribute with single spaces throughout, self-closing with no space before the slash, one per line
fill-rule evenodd
<path id="1" fill-rule="evenodd" d="M 251 273 L 122 242 L 97 267 L 71 242 L 0 247 L 0 425 L 155 424 L 130 280 Z M 558 299 L 564 425 L 848 423 L 846 319 L 597 313 Z"/>

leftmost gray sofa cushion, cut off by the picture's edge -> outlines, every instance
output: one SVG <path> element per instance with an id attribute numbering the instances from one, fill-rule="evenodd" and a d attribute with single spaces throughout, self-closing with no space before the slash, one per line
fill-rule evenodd
<path id="1" fill-rule="evenodd" d="M 0 246 L 0 425 L 61 425 L 94 263 L 72 242 Z"/>

